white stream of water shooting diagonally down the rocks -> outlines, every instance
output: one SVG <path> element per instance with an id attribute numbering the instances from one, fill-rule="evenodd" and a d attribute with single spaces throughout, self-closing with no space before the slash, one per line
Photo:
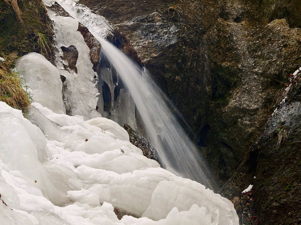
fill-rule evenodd
<path id="1" fill-rule="evenodd" d="M 215 189 L 216 181 L 209 168 L 169 109 L 162 91 L 151 79 L 151 75 L 147 70 L 141 71 L 134 61 L 104 40 L 104 27 L 95 26 L 106 24 L 104 18 L 93 14 L 83 6 L 69 4 L 68 1 L 58 3 L 86 26 L 101 43 L 102 54 L 110 61 L 130 91 L 141 116 L 147 139 L 157 150 L 166 169 Z"/>

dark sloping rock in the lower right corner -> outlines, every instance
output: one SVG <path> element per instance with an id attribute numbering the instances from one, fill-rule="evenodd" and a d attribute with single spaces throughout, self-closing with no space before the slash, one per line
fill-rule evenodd
<path id="1" fill-rule="evenodd" d="M 221 194 L 232 199 L 253 184 L 260 224 L 299 224 L 301 201 L 301 86 L 295 85 L 247 152 Z M 287 138 L 278 144 L 279 134 Z M 254 177 L 256 177 L 254 179 Z"/>

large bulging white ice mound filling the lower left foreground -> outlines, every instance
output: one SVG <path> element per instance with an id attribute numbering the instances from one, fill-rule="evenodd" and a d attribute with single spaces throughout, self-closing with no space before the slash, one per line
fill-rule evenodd
<path id="1" fill-rule="evenodd" d="M 238 224 L 228 199 L 160 168 L 115 122 L 28 111 L 0 102 L 5 225 Z"/>

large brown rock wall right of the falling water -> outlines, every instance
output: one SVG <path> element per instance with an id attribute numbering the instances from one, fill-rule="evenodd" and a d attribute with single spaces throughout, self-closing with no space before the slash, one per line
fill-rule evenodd
<path id="1" fill-rule="evenodd" d="M 281 82 L 301 64 L 293 29 L 301 2 L 183 0 L 183 14 L 172 18 L 159 0 L 79 2 L 128 38 L 224 184 L 274 110 Z"/>

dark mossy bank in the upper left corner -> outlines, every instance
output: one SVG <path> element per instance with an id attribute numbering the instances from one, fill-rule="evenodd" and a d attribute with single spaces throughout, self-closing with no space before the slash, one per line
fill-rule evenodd
<path id="1" fill-rule="evenodd" d="M 24 23 L 19 21 L 10 5 L 0 1 L 1 55 L 7 56 L 14 51 L 17 51 L 18 56 L 28 52 L 40 52 L 40 46 L 34 38 L 37 31 L 52 37 L 50 22 L 42 0 L 24 0 L 19 7 Z"/>

